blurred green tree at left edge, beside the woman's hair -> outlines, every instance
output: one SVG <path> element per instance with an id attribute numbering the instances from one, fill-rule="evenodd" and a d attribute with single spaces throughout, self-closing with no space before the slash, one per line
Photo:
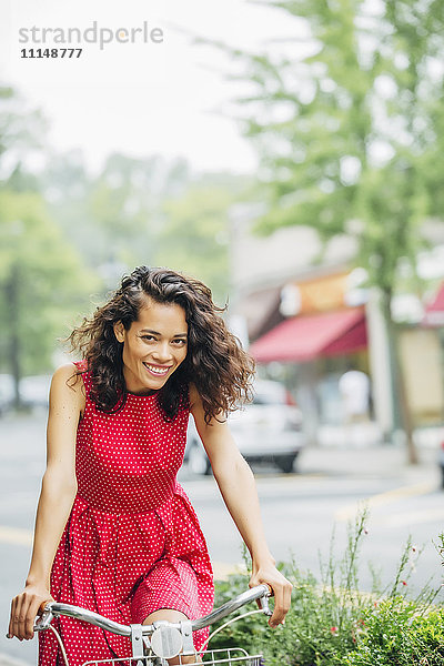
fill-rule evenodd
<path id="1" fill-rule="evenodd" d="M 57 336 L 98 287 L 39 194 L 0 191 L 1 365 L 14 377 L 17 405 L 20 379 L 52 367 Z"/>

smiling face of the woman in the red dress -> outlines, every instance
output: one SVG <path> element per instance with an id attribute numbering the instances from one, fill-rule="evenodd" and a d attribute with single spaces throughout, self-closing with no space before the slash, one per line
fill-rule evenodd
<path id="1" fill-rule="evenodd" d="M 148 297 L 130 329 L 118 322 L 114 334 L 123 342 L 123 376 L 130 393 L 158 391 L 186 356 L 185 312 L 176 303 Z"/>

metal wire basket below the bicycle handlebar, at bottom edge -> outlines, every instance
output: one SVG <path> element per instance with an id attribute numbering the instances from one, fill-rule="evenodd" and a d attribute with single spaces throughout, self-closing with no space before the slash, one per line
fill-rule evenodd
<path id="1" fill-rule="evenodd" d="M 83 666 L 157 666 L 158 664 L 167 664 L 155 655 L 147 655 L 144 657 L 131 657 L 119 659 L 99 659 L 84 662 Z M 182 664 L 181 655 L 179 655 L 179 664 Z M 195 654 L 195 662 L 186 664 L 186 666 L 262 666 L 262 655 L 249 655 L 242 647 L 230 647 L 226 649 L 208 649 Z M 185 665 L 184 665 L 185 666 Z"/>

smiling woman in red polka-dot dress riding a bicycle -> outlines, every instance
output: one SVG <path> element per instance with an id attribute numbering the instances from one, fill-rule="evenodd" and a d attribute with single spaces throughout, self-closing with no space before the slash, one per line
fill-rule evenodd
<path id="1" fill-rule="evenodd" d="M 253 362 L 226 330 L 201 282 L 141 266 L 75 329 L 83 361 L 56 371 L 50 391 L 48 465 L 24 591 L 9 635 L 32 638 L 51 599 L 110 619 L 150 624 L 209 613 L 213 583 L 198 518 L 176 473 L 189 412 L 224 502 L 252 556 L 250 585 L 268 583 L 284 620 L 291 584 L 266 546 L 253 475 L 225 415 L 248 398 Z M 71 666 L 129 654 L 129 640 L 59 618 Z M 199 648 L 208 629 L 194 637 Z M 39 663 L 56 666 L 50 632 Z"/>

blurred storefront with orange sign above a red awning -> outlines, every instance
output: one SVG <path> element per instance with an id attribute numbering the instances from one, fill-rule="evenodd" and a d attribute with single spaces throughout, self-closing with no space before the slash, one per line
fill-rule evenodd
<path id="1" fill-rule="evenodd" d="M 321 423 L 347 421 L 341 377 L 353 370 L 370 389 L 367 322 L 364 305 L 349 304 L 349 272 L 340 271 L 281 290 L 281 319 L 256 339 L 250 352 L 260 373 L 280 381 L 293 392 L 304 412 L 312 441 Z M 365 418 L 372 414 L 366 390 Z"/>

